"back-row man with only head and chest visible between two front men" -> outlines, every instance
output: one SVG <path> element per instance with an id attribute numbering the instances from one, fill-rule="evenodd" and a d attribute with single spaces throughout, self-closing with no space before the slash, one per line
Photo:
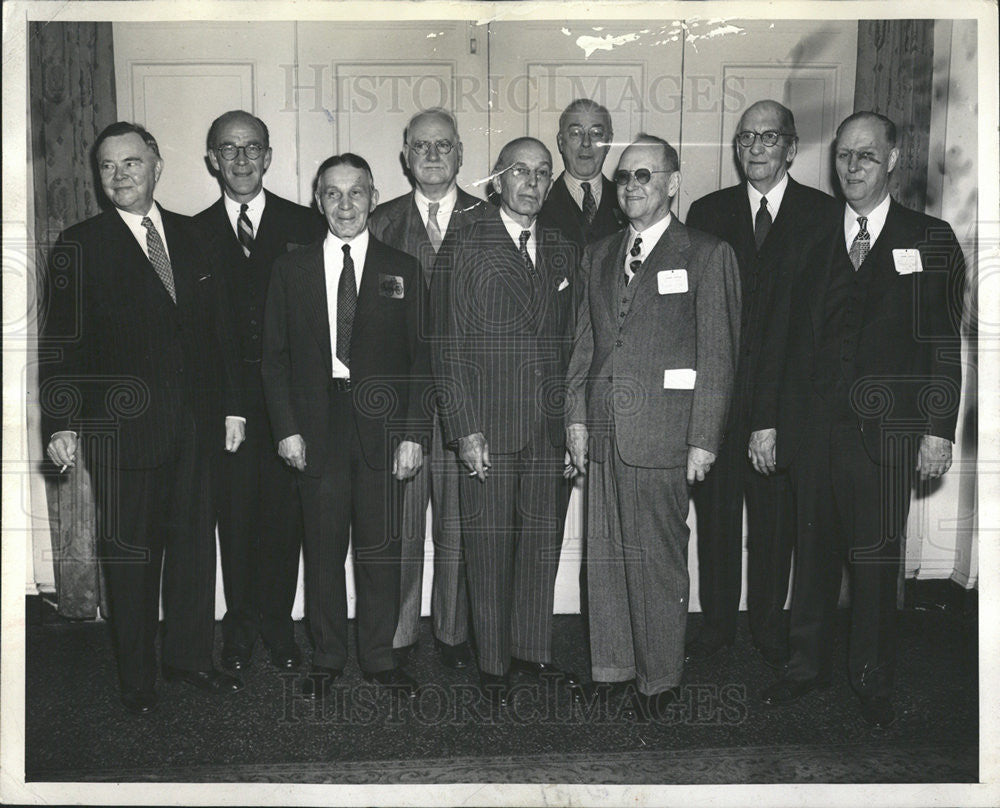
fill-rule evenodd
<path id="1" fill-rule="evenodd" d="M 552 183 L 539 217 L 581 254 L 625 226 L 615 185 L 601 173 L 613 139 L 611 113 L 589 98 L 571 101 L 559 116 L 556 143 L 565 170 Z"/>

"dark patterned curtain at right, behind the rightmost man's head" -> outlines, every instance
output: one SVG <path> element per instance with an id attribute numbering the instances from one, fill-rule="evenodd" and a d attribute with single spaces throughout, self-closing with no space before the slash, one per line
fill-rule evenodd
<path id="1" fill-rule="evenodd" d="M 854 109 L 891 118 L 899 132 L 899 163 L 890 191 L 908 208 L 927 202 L 933 20 L 860 20 Z"/>

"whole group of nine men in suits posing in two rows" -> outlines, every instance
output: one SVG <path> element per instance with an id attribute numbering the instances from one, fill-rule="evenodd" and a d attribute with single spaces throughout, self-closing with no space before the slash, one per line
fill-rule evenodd
<path id="1" fill-rule="evenodd" d="M 573 101 L 564 172 L 540 141 L 512 140 L 494 206 L 458 188 L 455 118 L 424 110 L 403 136 L 413 190 L 379 205 L 369 163 L 335 155 L 317 172 L 319 216 L 264 190 L 267 127 L 232 111 L 208 135 L 222 196 L 189 220 L 153 201 L 163 164 L 148 132 L 100 135 L 113 208 L 53 248 L 45 334 L 60 351 L 41 394 L 53 463 L 103 469 L 128 709 L 156 706 L 164 550 L 165 678 L 241 687 L 212 664 L 216 520 L 225 668 L 245 670 L 258 636 L 275 667 L 301 664 L 301 546 L 302 688 L 320 696 L 342 676 L 353 546 L 359 667 L 415 696 L 430 502 L 443 664 L 477 666 L 496 708 L 511 676 L 549 676 L 578 699 L 620 698 L 623 717 L 654 715 L 686 662 L 733 642 L 745 500 L 751 631 L 782 670 L 763 701 L 829 681 L 846 553 L 852 685 L 871 723 L 891 723 L 909 487 L 947 471 L 954 439 L 954 234 L 889 197 L 896 131 L 875 113 L 837 132 L 840 205 L 789 176 L 791 111 L 753 104 L 734 141 L 743 181 L 695 202 L 686 225 L 671 212 L 676 150 L 640 135 L 609 180 L 612 140 L 609 111 Z M 102 428 L 110 441 L 87 440 Z M 577 475 L 586 685 L 552 658 Z M 705 621 L 685 646 L 691 499 Z"/>

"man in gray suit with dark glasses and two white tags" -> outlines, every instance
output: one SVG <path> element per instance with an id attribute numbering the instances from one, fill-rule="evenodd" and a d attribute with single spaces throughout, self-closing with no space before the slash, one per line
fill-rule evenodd
<path id="1" fill-rule="evenodd" d="M 587 249 L 567 373 L 567 447 L 589 450 L 587 578 L 595 694 L 622 715 L 676 699 L 688 611 L 688 486 L 722 441 L 736 369 L 732 248 L 670 213 L 677 152 L 640 135 L 614 180 L 627 231 Z M 626 687 L 635 679 L 635 689 Z"/>

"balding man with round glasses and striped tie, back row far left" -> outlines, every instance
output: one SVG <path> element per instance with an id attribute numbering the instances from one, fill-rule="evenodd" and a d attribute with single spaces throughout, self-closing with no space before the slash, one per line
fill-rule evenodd
<path id="1" fill-rule="evenodd" d="M 298 583 L 302 516 L 293 472 L 275 450 L 260 378 L 264 300 L 274 259 L 323 233 L 323 219 L 264 190 L 271 165 L 267 126 L 243 110 L 212 122 L 208 162 L 222 196 L 195 219 L 216 245 L 232 304 L 233 339 L 248 407 L 247 440 L 217 458 L 219 548 L 226 615 L 222 664 L 250 665 L 258 635 L 279 670 L 299 666 L 292 604 Z"/>

